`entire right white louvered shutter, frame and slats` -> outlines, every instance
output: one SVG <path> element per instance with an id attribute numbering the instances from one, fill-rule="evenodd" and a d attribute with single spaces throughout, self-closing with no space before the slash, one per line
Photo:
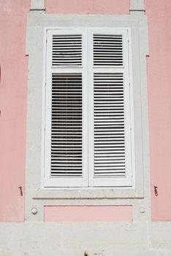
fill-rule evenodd
<path id="1" fill-rule="evenodd" d="M 91 114 L 89 184 L 132 186 L 128 32 L 90 32 Z M 93 96 L 92 96 L 93 95 Z"/>

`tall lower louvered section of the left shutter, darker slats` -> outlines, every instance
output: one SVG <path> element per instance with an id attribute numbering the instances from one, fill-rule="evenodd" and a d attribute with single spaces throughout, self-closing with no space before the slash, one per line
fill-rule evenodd
<path id="1" fill-rule="evenodd" d="M 51 176 L 82 176 L 82 75 L 53 74 Z"/>

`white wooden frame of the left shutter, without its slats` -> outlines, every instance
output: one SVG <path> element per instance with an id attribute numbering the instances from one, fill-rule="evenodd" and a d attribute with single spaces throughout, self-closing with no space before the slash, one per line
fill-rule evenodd
<path id="1" fill-rule="evenodd" d="M 69 35 L 75 35 L 75 34 L 79 34 L 82 36 L 82 47 L 84 49 L 86 49 L 86 32 L 82 29 L 75 29 L 75 30 L 65 30 L 65 31 L 61 31 L 61 30 L 56 30 L 56 31 L 47 31 L 47 86 L 46 86 L 46 128 L 45 128 L 45 187 L 87 187 L 87 175 L 88 175 L 88 170 L 87 170 L 87 152 L 86 152 L 86 148 L 87 148 L 87 136 L 86 136 L 86 132 L 87 132 L 87 121 L 86 121 L 86 116 L 87 116 L 87 110 L 86 110 L 86 106 L 87 106 L 87 96 L 86 96 L 86 84 L 87 84 L 87 75 L 85 75 L 86 72 L 86 50 L 83 51 L 83 65 L 80 65 L 80 67 L 78 68 L 74 68 L 72 69 L 72 67 L 69 66 L 68 68 L 65 67 L 58 67 L 57 68 L 53 68 L 53 64 L 52 64 L 52 59 L 53 59 L 53 54 L 52 54 L 52 45 L 53 45 L 53 35 L 57 34 L 57 35 L 65 35 L 65 34 L 69 34 Z M 52 165 L 52 162 L 55 161 L 55 159 L 53 158 L 53 155 L 51 153 L 51 125 L 52 125 L 52 119 L 51 119 L 51 102 L 52 102 L 52 98 L 51 98 L 51 93 L 52 93 L 52 74 L 63 74 L 62 76 L 68 75 L 69 77 L 76 77 L 77 80 L 77 75 L 74 74 L 80 74 L 82 76 L 82 88 L 83 88 L 83 95 L 82 95 L 82 99 L 83 100 L 83 105 L 82 105 L 82 110 L 83 110 L 83 128 L 82 128 L 82 135 L 83 135 L 83 148 L 82 148 L 82 166 L 80 164 L 77 165 L 77 167 L 79 166 L 80 169 L 80 174 L 75 173 L 75 169 L 77 169 L 76 165 L 75 167 L 69 167 L 69 172 L 71 173 L 71 175 L 66 176 L 66 174 L 64 174 L 64 168 L 62 167 L 64 165 L 60 165 L 61 166 L 61 171 L 59 171 L 59 173 L 52 173 L 51 170 L 51 166 L 56 167 L 56 164 Z M 79 75 L 79 76 L 80 76 Z M 75 94 L 77 91 L 73 91 L 72 94 Z M 71 92 L 70 92 L 71 93 Z M 58 94 L 60 94 L 60 91 L 58 92 Z M 71 95 L 72 95 L 71 94 Z M 54 105 L 53 105 L 54 106 Z M 54 107 L 56 109 L 56 107 Z M 68 123 L 69 124 L 69 123 Z M 69 129 L 70 131 L 70 129 Z M 69 134 L 69 131 L 67 131 L 67 135 Z M 65 134 L 64 131 L 62 133 L 58 132 L 58 134 Z M 72 132 L 70 132 L 70 134 L 72 135 Z M 77 132 L 76 132 L 77 134 Z M 76 148 L 75 150 L 80 151 L 79 148 Z M 75 153 L 77 153 L 75 151 Z M 70 156 L 72 157 L 72 155 Z M 67 166 L 67 165 L 65 165 Z M 60 174 L 60 172 L 62 172 Z M 73 173 L 74 172 L 74 173 Z"/>

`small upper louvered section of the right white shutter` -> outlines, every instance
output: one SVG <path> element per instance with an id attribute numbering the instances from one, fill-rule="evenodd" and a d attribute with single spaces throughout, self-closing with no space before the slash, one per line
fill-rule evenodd
<path id="1" fill-rule="evenodd" d="M 94 34 L 94 66 L 123 66 L 122 35 Z"/>

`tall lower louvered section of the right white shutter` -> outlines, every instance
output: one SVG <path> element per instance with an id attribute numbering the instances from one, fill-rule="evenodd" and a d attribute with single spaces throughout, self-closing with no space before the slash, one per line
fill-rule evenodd
<path id="1" fill-rule="evenodd" d="M 94 74 L 94 176 L 125 176 L 123 74 Z"/>

